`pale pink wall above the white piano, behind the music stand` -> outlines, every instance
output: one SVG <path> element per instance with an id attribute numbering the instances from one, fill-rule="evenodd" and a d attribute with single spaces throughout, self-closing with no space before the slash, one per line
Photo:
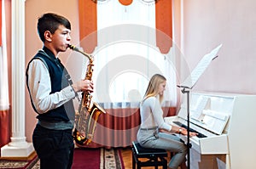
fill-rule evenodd
<path id="1" fill-rule="evenodd" d="M 256 1 L 184 0 L 183 54 L 194 68 L 223 43 L 195 90 L 256 93 Z"/>

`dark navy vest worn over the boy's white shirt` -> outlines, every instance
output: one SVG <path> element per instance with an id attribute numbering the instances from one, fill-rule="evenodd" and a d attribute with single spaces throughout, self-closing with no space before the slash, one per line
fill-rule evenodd
<path id="1" fill-rule="evenodd" d="M 50 83 L 51 83 L 51 92 L 49 94 L 60 92 L 62 88 L 65 88 L 68 85 L 72 84 L 70 80 L 70 76 L 68 75 L 67 70 L 64 68 L 64 66 L 61 64 L 60 59 L 56 59 L 54 54 L 52 54 L 48 48 L 44 48 L 44 50 L 40 50 L 38 54 L 36 54 L 32 58 L 32 60 L 33 59 L 41 59 L 44 62 L 44 65 L 46 65 L 46 67 L 49 70 Z M 32 62 L 32 60 L 29 62 L 29 64 Z M 28 88 L 27 70 L 26 70 L 26 85 Z M 32 104 L 32 107 L 37 112 L 33 104 Z M 73 100 L 71 99 L 66 104 L 63 104 L 54 110 L 49 110 L 44 114 L 38 114 L 37 118 L 39 121 L 49 121 L 49 122 L 70 121 L 70 120 L 74 120 L 74 114 L 75 112 L 73 107 Z"/>

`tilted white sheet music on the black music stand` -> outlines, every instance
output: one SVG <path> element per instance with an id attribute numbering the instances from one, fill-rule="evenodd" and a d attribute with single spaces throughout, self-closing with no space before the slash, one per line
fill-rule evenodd
<path id="1" fill-rule="evenodd" d="M 195 66 L 195 69 L 191 72 L 190 76 L 186 78 L 186 80 L 180 85 L 180 87 L 188 87 L 192 88 L 195 85 L 195 82 L 198 81 L 199 77 L 203 74 L 203 72 L 207 69 L 208 65 L 210 65 L 212 59 L 215 59 L 218 54 L 219 48 L 222 47 L 222 44 L 218 45 L 217 48 L 214 48 L 209 54 L 206 54 Z"/>

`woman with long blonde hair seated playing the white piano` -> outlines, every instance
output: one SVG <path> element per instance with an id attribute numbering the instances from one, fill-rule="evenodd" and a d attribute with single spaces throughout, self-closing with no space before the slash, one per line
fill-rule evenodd
<path id="1" fill-rule="evenodd" d="M 155 74 L 151 77 L 147 91 L 140 105 L 141 126 L 137 132 L 137 141 L 144 148 L 166 149 L 175 152 L 168 167 L 175 169 L 185 161 L 187 146 L 173 133 L 187 135 L 183 127 L 167 124 L 163 118 L 160 103 L 166 89 L 166 77 Z M 195 136 L 195 132 L 189 132 Z"/>

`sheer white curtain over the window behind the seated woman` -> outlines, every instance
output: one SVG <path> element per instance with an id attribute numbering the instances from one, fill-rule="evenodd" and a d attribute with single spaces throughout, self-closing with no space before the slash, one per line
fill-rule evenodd
<path id="1" fill-rule="evenodd" d="M 94 51 L 94 99 L 102 107 L 137 107 L 155 73 L 167 78 L 165 106 L 176 106 L 176 73 L 172 49 L 156 47 L 154 3 L 118 0 L 97 3 L 97 47 Z"/>

